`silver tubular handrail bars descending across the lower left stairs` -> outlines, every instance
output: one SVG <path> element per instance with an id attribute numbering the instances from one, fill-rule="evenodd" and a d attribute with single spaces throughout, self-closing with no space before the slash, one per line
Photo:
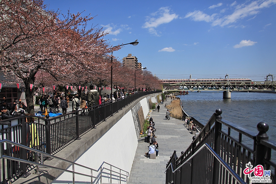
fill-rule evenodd
<path id="1" fill-rule="evenodd" d="M 28 161 L 28 160 L 23 160 L 23 159 L 18 159 L 18 158 L 11 157 L 11 156 L 3 155 L 2 149 L 0 149 L 0 159 L 10 159 L 10 160 L 17 161 L 17 162 L 22 162 L 22 163 L 27 163 L 27 164 L 31 164 L 31 165 L 36 165 L 37 167 L 40 166 L 40 167 L 46 167 L 46 168 L 49 168 L 49 169 L 56 169 L 56 170 L 59 170 L 59 171 L 72 173 L 73 175 L 74 175 L 74 174 L 79 174 L 79 175 L 86 176 L 86 177 L 90 177 L 90 178 L 98 178 L 98 177 L 93 176 L 93 175 L 92 175 L 92 172 L 91 172 L 91 175 L 87 175 L 87 174 L 82 174 L 82 173 L 76 172 L 75 169 L 74 169 L 74 166 L 77 165 L 77 166 L 79 166 L 79 167 L 82 167 L 82 168 L 85 168 L 85 169 L 89 169 L 90 171 L 96 171 L 96 172 L 100 171 L 100 169 L 101 169 L 101 172 L 102 172 L 104 169 L 106 169 L 106 170 L 108 170 L 108 171 L 112 171 L 111 169 L 108 169 L 108 168 L 105 168 L 105 167 L 102 168 L 103 164 L 107 164 L 107 165 L 109 165 L 109 166 L 115 167 L 115 168 L 117 168 L 117 169 L 120 170 L 120 173 L 117 172 L 117 171 L 112 171 L 113 173 L 121 174 L 121 175 L 126 176 L 126 177 L 129 176 L 129 172 L 128 172 L 128 171 L 122 170 L 122 169 L 120 169 L 120 168 L 118 168 L 118 167 L 116 167 L 116 166 L 113 166 L 112 164 L 106 163 L 106 162 L 103 162 L 102 165 L 98 168 L 98 170 L 96 170 L 96 169 L 93 169 L 93 168 L 90 168 L 90 167 L 83 166 L 83 165 L 78 164 L 78 163 L 71 162 L 71 161 L 69 161 L 69 160 L 65 160 L 65 159 L 59 158 L 59 157 L 57 157 L 57 156 L 55 156 L 55 155 L 47 154 L 47 153 L 45 153 L 45 152 L 43 152 L 43 151 L 39 151 L 39 150 L 30 148 L 30 147 L 24 146 L 24 145 L 22 145 L 22 144 L 15 143 L 15 142 L 10 141 L 10 140 L 6 140 L 6 139 L 0 140 L 0 144 L 4 144 L 4 143 L 12 144 L 12 145 L 17 146 L 17 147 L 19 147 L 19 148 L 23 148 L 23 149 L 26 149 L 26 150 L 29 150 L 29 151 L 34 151 L 34 152 L 36 152 L 36 153 L 40 153 L 40 154 L 41 154 L 41 158 L 44 158 L 44 155 L 45 155 L 45 156 L 48 156 L 48 157 L 53 157 L 53 158 L 55 158 L 55 159 L 62 160 L 62 161 L 64 161 L 64 162 L 70 163 L 70 164 L 72 164 L 72 170 L 73 170 L 73 171 L 66 170 L 66 169 L 62 169 L 62 168 L 58 168 L 58 167 L 49 166 L 49 165 L 44 164 L 43 161 L 42 161 L 42 163 L 40 164 L 40 163 L 36 163 L 36 162 L 31 162 L 31 161 Z M 41 159 L 41 160 L 43 160 L 43 159 Z M 127 173 L 127 175 L 126 175 L 126 174 L 122 174 L 121 171 Z M 100 173 L 101 173 L 101 172 L 100 172 Z M 99 173 L 99 174 L 100 174 L 100 173 Z M 99 176 L 99 174 L 98 174 L 98 176 Z M 102 175 L 101 175 L 101 176 L 102 176 Z M 121 177 L 120 177 L 120 180 L 121 180 Z M 74 183 L 75 183 L 75 181 L 74 181 L 74 176 L 73 176 L 73 184 L 74 184 Z M 91 184 L 92 184 L 92 183 L 93 183 L 93 182 L 92 182 L 92 179 L 91 179 Z"/>

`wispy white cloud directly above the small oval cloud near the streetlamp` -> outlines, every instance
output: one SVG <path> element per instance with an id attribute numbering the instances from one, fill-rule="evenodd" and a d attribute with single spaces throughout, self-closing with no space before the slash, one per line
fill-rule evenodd
<path id="1" fill-rule="evenodd" d="M 142 27 L 147 28 L 150 33 L 158 36 L 154 28 L 161 24 L 169 23 L 176 18 L 178 18 L 178 15 L 175 13 L 170 14 L 170 9 L 168 7 L 161 7 L 157 12 L 151 13 L 151 17 L 147 17 L 147 21 Z"/>

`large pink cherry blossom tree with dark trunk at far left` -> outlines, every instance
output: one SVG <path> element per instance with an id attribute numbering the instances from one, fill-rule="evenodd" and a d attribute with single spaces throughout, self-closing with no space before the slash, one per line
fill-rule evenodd
<path id="1" fill-rule="evenodd" d="M 92 70 L 94 58 L 110 50 L 101 29 L 86 28 L 93 17 L 62 16 L 47 10 L 42 0 L 1 0 L 0 16 L 1 71 L 24 83 L 27 110 L 33 114 L 38 71 L 48 73 L 53 83 L 76 81 L 76 72 Z"/>

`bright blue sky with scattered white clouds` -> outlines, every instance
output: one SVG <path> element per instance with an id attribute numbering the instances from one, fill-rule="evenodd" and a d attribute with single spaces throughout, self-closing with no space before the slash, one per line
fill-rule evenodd
<path id="1" fill-rule="evenodd" d="M 129 53 L 160 79 L 276 77 L 276 0 L 45 0 L 50 10 L 91 14 L 110 32 L 113 52 Z"/>

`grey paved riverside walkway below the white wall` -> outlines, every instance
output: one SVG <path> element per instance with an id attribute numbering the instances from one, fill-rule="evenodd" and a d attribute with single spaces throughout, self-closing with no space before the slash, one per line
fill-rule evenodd
<path id="1" fill-rule="evenodd" d="M 148 152 L 149 144 L 145 142 L 138 143 L 128 184 L 165 184 L 166 174 L 164 171 L 174 150 L 176 150 L 176 154 L 179 156 L 181 155 L 181 151 L 185 151 L 192 142 L 194 135 L 184 126 L 184 121 L 174 118 L 166 120 L 167 109 L 164 107 L 164 104 L 159 105 L 159 113 L 157 110 L 151 113 L 151 117 L 155 122 L 159 157 L 156 157 L 156 159 L 147 158 L 145 152 Z"/>

